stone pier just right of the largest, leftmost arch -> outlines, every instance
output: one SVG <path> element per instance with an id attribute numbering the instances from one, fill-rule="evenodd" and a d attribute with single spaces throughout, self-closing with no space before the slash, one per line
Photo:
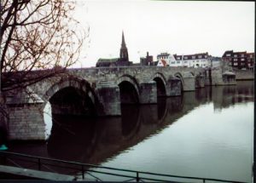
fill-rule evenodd
<path id="1" fill-rule="evenodd" d="M 112 82 L 102 82 L 97 85 L 96 94 L 102 105 L 97 110 L 99 116 L 121 115 L 119 86 Z"/>

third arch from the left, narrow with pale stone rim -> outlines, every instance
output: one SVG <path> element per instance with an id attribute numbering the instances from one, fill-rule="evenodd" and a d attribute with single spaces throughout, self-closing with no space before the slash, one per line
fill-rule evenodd
<path id="1" fill-rule="evenodd" d="M 156 82 L 157 96 L 166 96 L 166 77 L 162 73 L 156 72 L 152 80 Z"/>

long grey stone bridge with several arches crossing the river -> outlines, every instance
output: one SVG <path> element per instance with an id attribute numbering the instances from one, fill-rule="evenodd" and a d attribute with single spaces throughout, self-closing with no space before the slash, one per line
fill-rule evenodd
<path id="1" fill-rule="evenodd" d="M 119 116 L 121 104 L 155 104 L 210 84 L 234 84 L 222 71 L 202 68 L 130 66 L 70 69 L 8 96 L 9 139 L 45 140 L 45 112 Z"/>

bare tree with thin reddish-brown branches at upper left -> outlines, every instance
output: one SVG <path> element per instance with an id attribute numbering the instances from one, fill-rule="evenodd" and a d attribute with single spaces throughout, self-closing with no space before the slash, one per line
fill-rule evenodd
<path id="1" fill-rule="evenodd" d="M 75 5 L 67 0 L 1 0 L 1 121 L 5 92 L 63 73 L 79 59 L 89 28 L 81 29 L 73 19 Z"/>

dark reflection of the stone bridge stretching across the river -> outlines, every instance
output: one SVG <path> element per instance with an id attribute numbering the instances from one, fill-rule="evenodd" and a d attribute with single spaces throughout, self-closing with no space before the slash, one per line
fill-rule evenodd
<path id="1" fill-rule="evenodd" d="M 240 98 L 241 92 L 247 97 Z M 228 100 L 227 94 L 230 95 Z M 159 100 L 157 105 L 122 106 L 121 117 L 96 120 L 55 115 L 54 118 L 62 121 L 61 125 L 69 132 L 54 123 L 48 143 L 49 156 L 83 163 L 102 163 L 149 136 L 160 133 L 196 106 L 212 102 L 214 107 L 221 108 L 237 102 L 253 101 L 253 86 L 206 87 Z"/>

